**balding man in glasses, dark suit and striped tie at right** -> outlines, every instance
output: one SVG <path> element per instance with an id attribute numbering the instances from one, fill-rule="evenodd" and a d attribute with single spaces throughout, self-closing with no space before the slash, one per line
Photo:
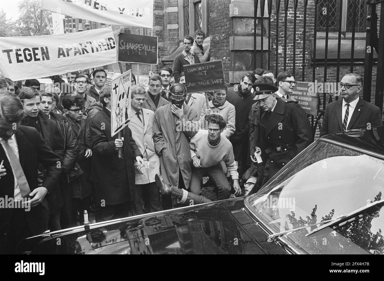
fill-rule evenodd
<path id="1" fill-rule="evenodd" d="M 347 73 L 339 84 L 342 99 L 331 102 L 325 109 L 320 136 L 362 128 L 382 126 L 379 107 L 359 98 L 362 78 Z"/>

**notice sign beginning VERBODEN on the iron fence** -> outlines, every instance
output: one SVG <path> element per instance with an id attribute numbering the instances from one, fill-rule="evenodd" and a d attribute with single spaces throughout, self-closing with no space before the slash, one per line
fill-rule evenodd
<path id="1" fill-rule="evenodd" d="M 317 116 L 319 109 L 318 93 L 317 91 L 312 91 L 314 87 L 311 84 L 313 83 L 297 82 L 291 97 L 299 102 L 306 114 Z"/>

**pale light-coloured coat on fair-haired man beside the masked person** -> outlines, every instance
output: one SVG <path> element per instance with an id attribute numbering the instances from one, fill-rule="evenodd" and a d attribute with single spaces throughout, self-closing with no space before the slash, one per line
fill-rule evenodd
<path id="1" fill-rule="evenodd" d="M 153 117 L 154 112 L 149 109 L 142 109 L 144 115 L 144 124 L 137 118 L 136 112 L 131 110 L 129 128 L 132 131 L 132 138 L 135 140 L 137 147 L 143 155 L 143 160 L 149 162 L 149 167 L 135 169 L 136 184 L 146 184 L 155 181 L 155 175 L 160 174 L 160 159 L 156 154 L 155 145 L 153 143 Z"/>

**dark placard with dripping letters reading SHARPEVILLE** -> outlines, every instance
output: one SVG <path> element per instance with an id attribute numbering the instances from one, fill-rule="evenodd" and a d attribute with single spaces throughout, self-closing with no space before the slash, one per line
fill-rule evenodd
<path id="1" fill-rule="evenodd" d="M 118 41 L 118 61 L 157 64 L 157 37 L 119 33 Z"/>

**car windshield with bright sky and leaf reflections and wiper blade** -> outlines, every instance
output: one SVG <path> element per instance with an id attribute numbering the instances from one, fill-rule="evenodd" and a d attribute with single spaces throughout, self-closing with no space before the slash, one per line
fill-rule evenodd
<path id="1" fill-rule="evenodd" d="M 382 159 L 318 141 L 247 197 L 245 205 L 273 233 L 279 233 L 351 213 L 384 199 L 383 191 Z M 305 236 L 318 226 L 293 231 L 282 239 L 301 253 L 384 253 L 382 204 Z"/>

